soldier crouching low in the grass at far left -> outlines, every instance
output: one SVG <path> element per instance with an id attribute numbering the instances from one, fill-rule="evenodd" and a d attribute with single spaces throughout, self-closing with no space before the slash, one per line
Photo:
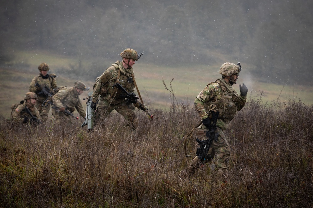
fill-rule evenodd
<path id="1" fill-rule="evenodd" d="M 38 109 L 35 107 L 38 97 L 34 92 L 28 92 L 25 94 L 24 102 L 15 108 L 11 115 L 11 119 L 15 122 L 23 123 L 41 123 L 41 116 Z"/>

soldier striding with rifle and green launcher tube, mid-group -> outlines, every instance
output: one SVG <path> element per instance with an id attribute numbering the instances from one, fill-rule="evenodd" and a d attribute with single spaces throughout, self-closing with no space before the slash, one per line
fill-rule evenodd
<path id="1" fill-rule="evenodd" d="M 139 123 L 139 119 L 135 114 L 135 107 L 142 110 L 146 108 L 140 106 L 139 103 L 132 104 L 129 102 L 125 99 L 125 93 L 116 87 L 113 88 L 113 85 L 119 83 L 127 92 L 134 93 L 135 75 L 132 67 L 140 56 L 130 48 L 122 51 L 120 56 L 122 61 L 116 61 L 103 72 L 100 78 L 97 78 L 92 94 L 91 108 L 96 110 L 96 120 L 116 110 L 131 123 L 132 128 L 135 130 Z"/>

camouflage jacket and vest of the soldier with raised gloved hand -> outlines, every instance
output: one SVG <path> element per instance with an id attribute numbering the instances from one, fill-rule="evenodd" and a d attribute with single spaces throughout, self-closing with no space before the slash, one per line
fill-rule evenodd
<path id="1" fill-rule="evenodd" d="M 239 96 L 232 85 L 218 78 L 198 94 L 194 105 L 201 119 L 211 116 L 209 110 L 220 112 L 216 125 L 221 129 L 226 129 L 227 122 L 244 107 L 246 99 L 247 96 Z"/>

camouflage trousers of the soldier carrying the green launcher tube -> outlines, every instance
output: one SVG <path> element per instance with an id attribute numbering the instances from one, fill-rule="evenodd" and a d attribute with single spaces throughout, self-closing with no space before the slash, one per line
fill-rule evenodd
<path id="1" fill-rule="evenodd" d="M 139 119 L 136 116 L 135 109 L 135 106 L 127 100 L 119 104 L 109 104 L 104 99 L 99 100 L 95 112 L 95 125 L 103 121 L 113 110 L 116 110 L 131 123 L 133 129 L 136 129 L 139 124 Z"/>

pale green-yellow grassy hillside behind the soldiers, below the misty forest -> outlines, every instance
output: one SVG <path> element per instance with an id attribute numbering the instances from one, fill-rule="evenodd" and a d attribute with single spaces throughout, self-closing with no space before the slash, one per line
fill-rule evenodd
<path id="1" fill-rule="evenodd" d="M 117 58 L 118 59 L 118 58 Z M 94 79 L 114 63 L 115 60 L 106 60 L 103 66 L 97 71 L 90 69 L 89 62 L 82 62 L 83 69 L 78 69 L 77 60 L 73 57 L 55 56 L 50 53 L 20 53 L 15 60 L 15 64 L 0 68 L 0 113 L 8 118 L 11 112 L 11 105 L 23 99 L 28 92 L 29 84 L 35 75 L 38 75 L 38 63 L 46 61 L 50 66 L 49 73 L 55 73 L 58 77 L 58 86 L 73 86 L 75 80 L 82 80 L 92 88 Z M 231 60 L 235 62 L 235 60 Z M 50 64 L 51 62 L 51 64 Z M 271 102 L 280 99 L 286 102 L 288 99 L 300 99 L 304 104 L 313 104 L 312 86 L 290 86 L 276 85 L 257 81 L 257 77 L 250 74 L 252 65 L 243 65 L 238 84 L 235 89 L 239 92 L 239 84 L 245 83 L 252 99 L 262 98 L 263 102 Z M 173 93 L 178 103 L 192 104 L 199 92 L 209 83 L 220 77 L 218 74 L 220 64 L 216 65 L 172 65 L 162 66 L 145 64 L 140 61 L 134 65 L 137 85 L 145 104 L 153 109 L 168 108 L 173 102 L 170 92 L 165 89 L 163 80 L 167 88 L 172 87 Z M 94 73 L 94 76 L 90 76 Z M 87 97 L 85 92 L 80 95 L 83 99 Z M 261 96 L 262 95 L 262 96 Z M 176 101 L 175 101 L 176 102 Z M 83 102 L 84 104 L 84 102 Z"/>

